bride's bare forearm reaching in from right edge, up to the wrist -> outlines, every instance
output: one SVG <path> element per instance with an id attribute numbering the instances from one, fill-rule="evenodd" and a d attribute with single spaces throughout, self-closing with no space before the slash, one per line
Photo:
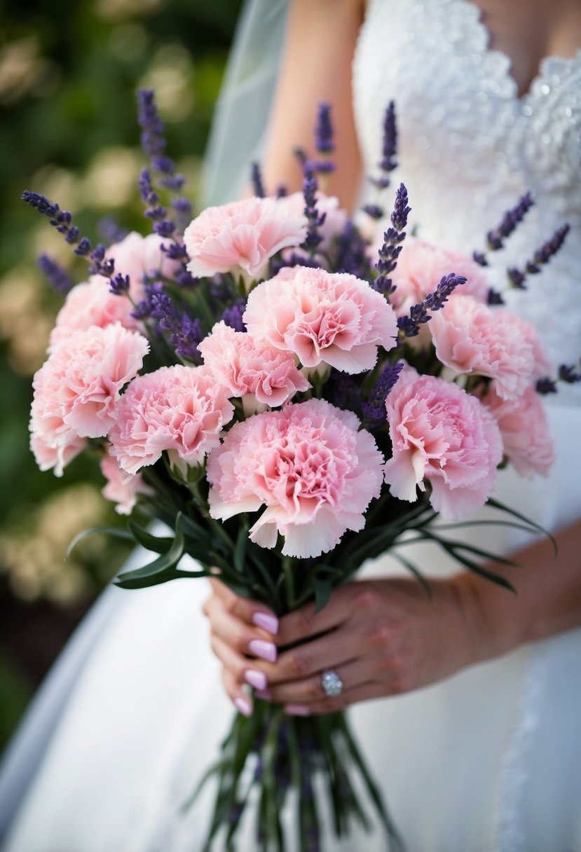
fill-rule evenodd
<path id="1" fill-rule="evenodd" d="M 581 625 L 581 519 L 513 556 L 517 567 L 493 563 L 516 594 L 471 573 L 454 578 L 473 637 L 475 661 Z"/>

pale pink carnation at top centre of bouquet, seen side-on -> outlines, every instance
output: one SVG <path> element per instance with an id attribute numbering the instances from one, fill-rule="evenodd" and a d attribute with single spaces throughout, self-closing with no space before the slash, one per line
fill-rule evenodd
<path id="1" fill-rule="evenodd" d="M 244 269 L 260 277 L 267 260 L 305 238 L 304 216 L 292 216 L 277 199 L 243 199 L 208 207 L 190 222 L 184 242 L 196 277 Z"/>

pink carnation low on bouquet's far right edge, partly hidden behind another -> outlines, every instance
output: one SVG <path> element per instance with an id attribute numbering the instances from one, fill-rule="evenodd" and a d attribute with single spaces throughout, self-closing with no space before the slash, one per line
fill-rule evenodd
<path id="1" fill-rule="evenodd" d="M 482 402 L 498 423 L 504 455 L 515 465 L 516 472 L 527 479 L 535 474 L 548 476 L 555 451 L 547 415 L 534 385 L 529 385 L 518 400 L 502 400 L 491 390 Z"/>

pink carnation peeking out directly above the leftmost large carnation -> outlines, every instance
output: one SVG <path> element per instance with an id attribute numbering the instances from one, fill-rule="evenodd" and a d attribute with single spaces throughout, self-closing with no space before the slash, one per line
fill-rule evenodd
<path id="1" fill-rule="evenodd" d="M 50 349 L 58 346 L 75 331 L 83 331 L 91 325 L 121 323 L 124 328 L 138 328 L 139 323 L 131 316 L 133 305 L 125 296 L 113 296 L 109 281 L 102 275 L 93 275 L 88 282 L 78 284 L 66 296 L 65 304 L 56 317 L 55 328 L 50 332 Z"/>

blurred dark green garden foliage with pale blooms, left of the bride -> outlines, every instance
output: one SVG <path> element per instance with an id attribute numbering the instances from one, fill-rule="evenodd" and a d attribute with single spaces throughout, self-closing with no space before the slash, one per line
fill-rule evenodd
<path id="1" fill-rule="evenodd" d="M 135 90 L 156 89 L 168 152 L 193 196 L 240 0 L 91 0 L 55 14 L 46 0 L 0 2 L 0 745 L 72 625 L 126 551 L 87 538 L 119 522 L 101 498 L 96 462 L 62 479 L 41 474 L 28 449 L 31 377 L 43 361 L 60 297 L 37 268 L 43 250 L 75 280 L 75 259 L 24 189 L 71 210 L 93 242 L 113 214 L 142 228 L 136 180 Z"/>

